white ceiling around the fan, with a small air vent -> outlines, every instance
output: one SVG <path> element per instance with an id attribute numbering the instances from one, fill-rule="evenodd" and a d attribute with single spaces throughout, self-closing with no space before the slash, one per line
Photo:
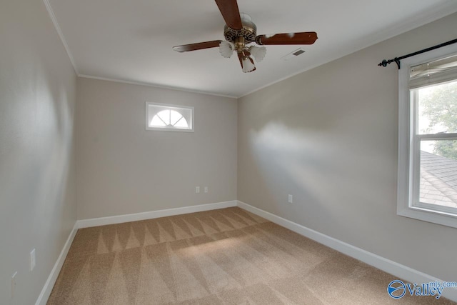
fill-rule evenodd
<path id="1" fill-rule="evenodd" d="M 456 0 L 238 0 L 257 34 L 318 34 L 315 44 L 303 46 L 305 54 L 290 61 L 281 57 L 300 46 L 266 46 L 257 70 L 243 74 L 236 54 L 225 59 L 217 48 L 171 49 L 224 39 L 224 19 L 213 0 L 44 1 L 80 76 L 233 97 L 457 11 Z"/>

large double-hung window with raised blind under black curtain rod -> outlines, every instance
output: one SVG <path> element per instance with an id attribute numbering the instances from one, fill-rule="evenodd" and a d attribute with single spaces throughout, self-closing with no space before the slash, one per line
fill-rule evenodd
<path id="1" fill-rule="evenodd" d="M 457 228 L 457 46 L 401 65 L 397 214 Z"/>

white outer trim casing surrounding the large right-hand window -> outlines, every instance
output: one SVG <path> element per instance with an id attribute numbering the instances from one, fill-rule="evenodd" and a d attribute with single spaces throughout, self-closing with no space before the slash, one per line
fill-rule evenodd
<path id="1" fill-rule="evenodd" d="M 413 136 L 411 136 L 411 121 L 414 120 L 410 109 L 410 92 L 408 87 L 409 68 L 417 64 L 439 59 L 443 56 L 456 54 L 457 44 L 444 46 L 440 49 L 428 51 L 423 54 L 411 56 L 401 61 L 398 71 L 398 186 L 397 186 L 397 214 L 413 219 L 428 221 L 444 226 L 457 228 L 457 215 L 446 211 L 427 209 L 426 207 L 413 206 L 413 175 L 414 167 L 411 166 L 413 151 Z M 416 166 L 417 167 L 417 166 Z"/>

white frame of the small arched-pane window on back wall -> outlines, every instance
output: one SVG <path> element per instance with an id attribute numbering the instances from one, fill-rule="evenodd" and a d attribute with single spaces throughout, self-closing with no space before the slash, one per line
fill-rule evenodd
<path id="1" fill-rule="evenodd" d="M 174 111 L 179 112 L 179 114 L 184 116 L 184 119 L 186 119 L 187 124 L 190 125 L 190 128 L 182 128 L 182 127 L 175 127 L 175 126 L 149 126 L 149 122 L 152 120 L 154 115 L 156 115 L 160 112 L 160 111 L 157 111 L 156 114 L 150 116 L 149 115 L 149 106 L 157 106 L 157 108 L 161 108 L 160 111 L 174 110 Z M 195 110 L 194 106 L 182 106 L 182 105 L 175 105 L 175 104 L 163 104 L 163 103 L 155 103 L 152 101 L 146 101 L 146 130 L 194 132 L 195 131 L 194 110 Z M 190 111 L 190 115 L 183 114 L 184 111 Z"/>

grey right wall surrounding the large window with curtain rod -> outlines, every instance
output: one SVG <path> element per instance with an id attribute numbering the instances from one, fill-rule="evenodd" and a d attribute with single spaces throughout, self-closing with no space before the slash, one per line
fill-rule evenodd
<path id="1" fill-rule="evenodd" d="M 453 14 L 239 99 L 238 200 L 456 281 L 457 229 L 396 215 L 398 70 L 376 66 L 456 37 Z"/>

